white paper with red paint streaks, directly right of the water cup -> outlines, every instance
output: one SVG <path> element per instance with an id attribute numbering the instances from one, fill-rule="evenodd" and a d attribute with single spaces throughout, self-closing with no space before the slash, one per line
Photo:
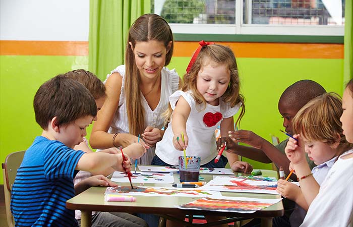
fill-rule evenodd
<path id="1" fill-rule="evenodd" d="M 200 189 L 221 192 L 250 192 L 279 195 L 276 192 L 277 181 L 262 181 L 244 177 L 218 176 L 206 185 L 200 187 Z"/>

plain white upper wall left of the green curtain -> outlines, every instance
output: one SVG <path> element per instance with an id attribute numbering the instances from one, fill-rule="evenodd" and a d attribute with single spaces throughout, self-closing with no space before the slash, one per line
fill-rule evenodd
<path id="1" fill-rule="evenodd" d="M 0 40 L 88 41 L 89 0 L 0 0 Z"/>

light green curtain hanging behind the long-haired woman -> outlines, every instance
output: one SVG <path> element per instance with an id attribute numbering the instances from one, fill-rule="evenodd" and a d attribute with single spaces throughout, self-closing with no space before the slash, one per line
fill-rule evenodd
<path id="1" fill-rule="evenodd" d="M 150 0 L 90 0 L 88 70 L 104 80 L 122 65 L 131 24 L 150 11 Z"/>

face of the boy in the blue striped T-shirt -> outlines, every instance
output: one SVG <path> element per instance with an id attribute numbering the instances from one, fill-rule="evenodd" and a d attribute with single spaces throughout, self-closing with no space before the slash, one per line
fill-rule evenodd
<path id="1" fill-rule="evenodd" d="M 64 143 L 70 148 L 74 148 L 83 141 L 82 138 L 87 135 L 86 128 L 92 123 L 92 121 L 92 116 L 86 116 L 67 125 L 60 126 L 60 131 L 56 136 L 56 140 Z"/>

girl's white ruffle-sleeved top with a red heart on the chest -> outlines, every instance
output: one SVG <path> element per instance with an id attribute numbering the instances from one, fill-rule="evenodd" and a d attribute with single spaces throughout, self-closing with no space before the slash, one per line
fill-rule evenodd
<path id="1" fill-rule="evenodd" d="M 175 104 L 183 96 L 191 107 L 190 115 L 186 123 L 186 132 L 189 137 L 186 155 L 201 157 L 201 165 L 208 163 L 217 156 L 215 130 L 223 120 L 234 116 L 242 103 L 230 107 L 228 103 L 219 100 L 219 105 L 197 104 L 191 91 L 176 91 L 169 96 L 171 108 L 174 110 Z M 170 165 L 178 165 L 178 157 L 183 155 L 183 151 L 174 148 L 172 139 L 173 132 L 171 123 L 165 130 L 163 139 L 156 144 L 156 155 Z"/>

